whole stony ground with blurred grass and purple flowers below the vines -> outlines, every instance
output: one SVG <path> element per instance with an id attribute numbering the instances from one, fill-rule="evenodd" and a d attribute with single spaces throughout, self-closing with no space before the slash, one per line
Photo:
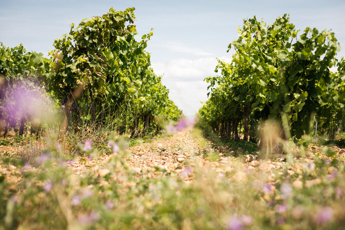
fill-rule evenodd
<path id="1" fill-rule="evenodd" d="M 86 141 L 80 156 L 32 143 L 31 163 L 28 148 L 1 146 L 0 229 L 344 228 L 345 149 L 245 163 L 202 134 Z"/>

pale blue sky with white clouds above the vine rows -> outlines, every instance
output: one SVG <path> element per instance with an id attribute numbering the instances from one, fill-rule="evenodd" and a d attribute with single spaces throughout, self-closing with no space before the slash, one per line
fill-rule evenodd
<path id="1" fill-rule="evenodd" d="M 170 90 L 169 97 L 193 116 L 207 100 L 204 78 L 216 76 L 216 58 L 231 61 L 230 42 L 244 18 L 254 15 L 268 24 L 284 13 L 303 31 L 306 27 L 330 30 L 345 48 L 345 1 L 118 1 L 118 0 L 0 0 L 0 42 L 48 56 L 55 39 L 70 30 L 70 24 L 101 16 L 114 7 L 135 7 L 137 39 L 154 28 L 148 43 L 151 66 Z M 342 49 L 337 57 L 345 56 Z"/>

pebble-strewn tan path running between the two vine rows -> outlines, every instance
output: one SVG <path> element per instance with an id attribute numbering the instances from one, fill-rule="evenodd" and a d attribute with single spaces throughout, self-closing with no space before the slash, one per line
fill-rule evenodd
<path id="1" fill-rule="evenodd" d="M 212 148 L 212 143 L 193 127 L 174 133 L 172 137 L 139 144 L 129 151 L 132 154 L 129 165 L 137 172 L 147 173 L 149 177 L 164 174 L 153 170 L 157 167 L 189 180 L 193 177 L 190 172 L 194 166 L 213 168 L 219 173 L 230 171 L 234 166 L 234 159 L 223 157 L 224 153 Z M 210 153 L 218 155 L 219 159 L 211 160 L 207 157 Z"/>

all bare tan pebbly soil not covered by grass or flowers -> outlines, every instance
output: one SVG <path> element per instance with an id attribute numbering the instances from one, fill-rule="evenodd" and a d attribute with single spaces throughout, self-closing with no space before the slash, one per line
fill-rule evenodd
<path id="1" fill-rule="evenodd" d="M 201 168 L 203 170 L 214 170 L 219 177 L 231 172 L 234 181 L 246 180 L 248 171 L 253 173 L 266 172 L 266 179 L 268 183 L 274 183 L 275 174 L 273 171 L 279 170 L 285 164 L 284 160 L 253 160 L 250 162 L 244 161 L 244 157 L 233 157 L 231 154 L 225 154 L 224 147 L 212 147 L 212 143 L 205 139 L 200 130 L 193 127 L 187 127 L 182 131 L 174 133 L 172 136 L 165 136 L 155 139 L 152 142 L 137 144 L 130 147 L 127 151 L 130 153 L 126 157 L 128 167 L 139 175 L 145 175 L 150 178 L 157 176 L 171 176 L 182 178 L 189 181 L 194 178 L 194 168 Z M 309 147 L 311 155 L 319 153 L 320 148 L 316 146 Z M 0 146 L 1 154 L 4 153 L 18 153 L 21 148 Z M 337 155 L 344 156 L 345 150 L 333 147 Z M 213 154 L 215 157 L 207 157 Z M 218 157 L 218 156 L 219 157 Z M 89 160 L 86 157 L 78 157 L 69 162 L 72 171 L 83 177 L 86 173 L 95 173 L 95 176 L 104 177 L 110 173 L 107 163 L 111 156 L 107 154 L 98 155 L 97 158 Z M 299 172 L 305 164 L 311 163 L 313 160 L 310 157 L 295 158 L 294 167 L 290 167 L 287 172 L 293 174 L 295 171 Z M 3 174 L 16 169 L 15 166 L 4 165 L 0 166 Z M 33 167 L 32 167 L 33 168 Z M 33 168 L 34 169 L 34 168 Z M 165 170 L 157 170 L 165 169 Z M 17 173 L 20 173 L 16 170 Z M 18 176 L 9 173 L 8 177 Z M 9 179 L 9 178 L 8 178 Z M 17 180 L 16 180 L 17 181 Z"/>

